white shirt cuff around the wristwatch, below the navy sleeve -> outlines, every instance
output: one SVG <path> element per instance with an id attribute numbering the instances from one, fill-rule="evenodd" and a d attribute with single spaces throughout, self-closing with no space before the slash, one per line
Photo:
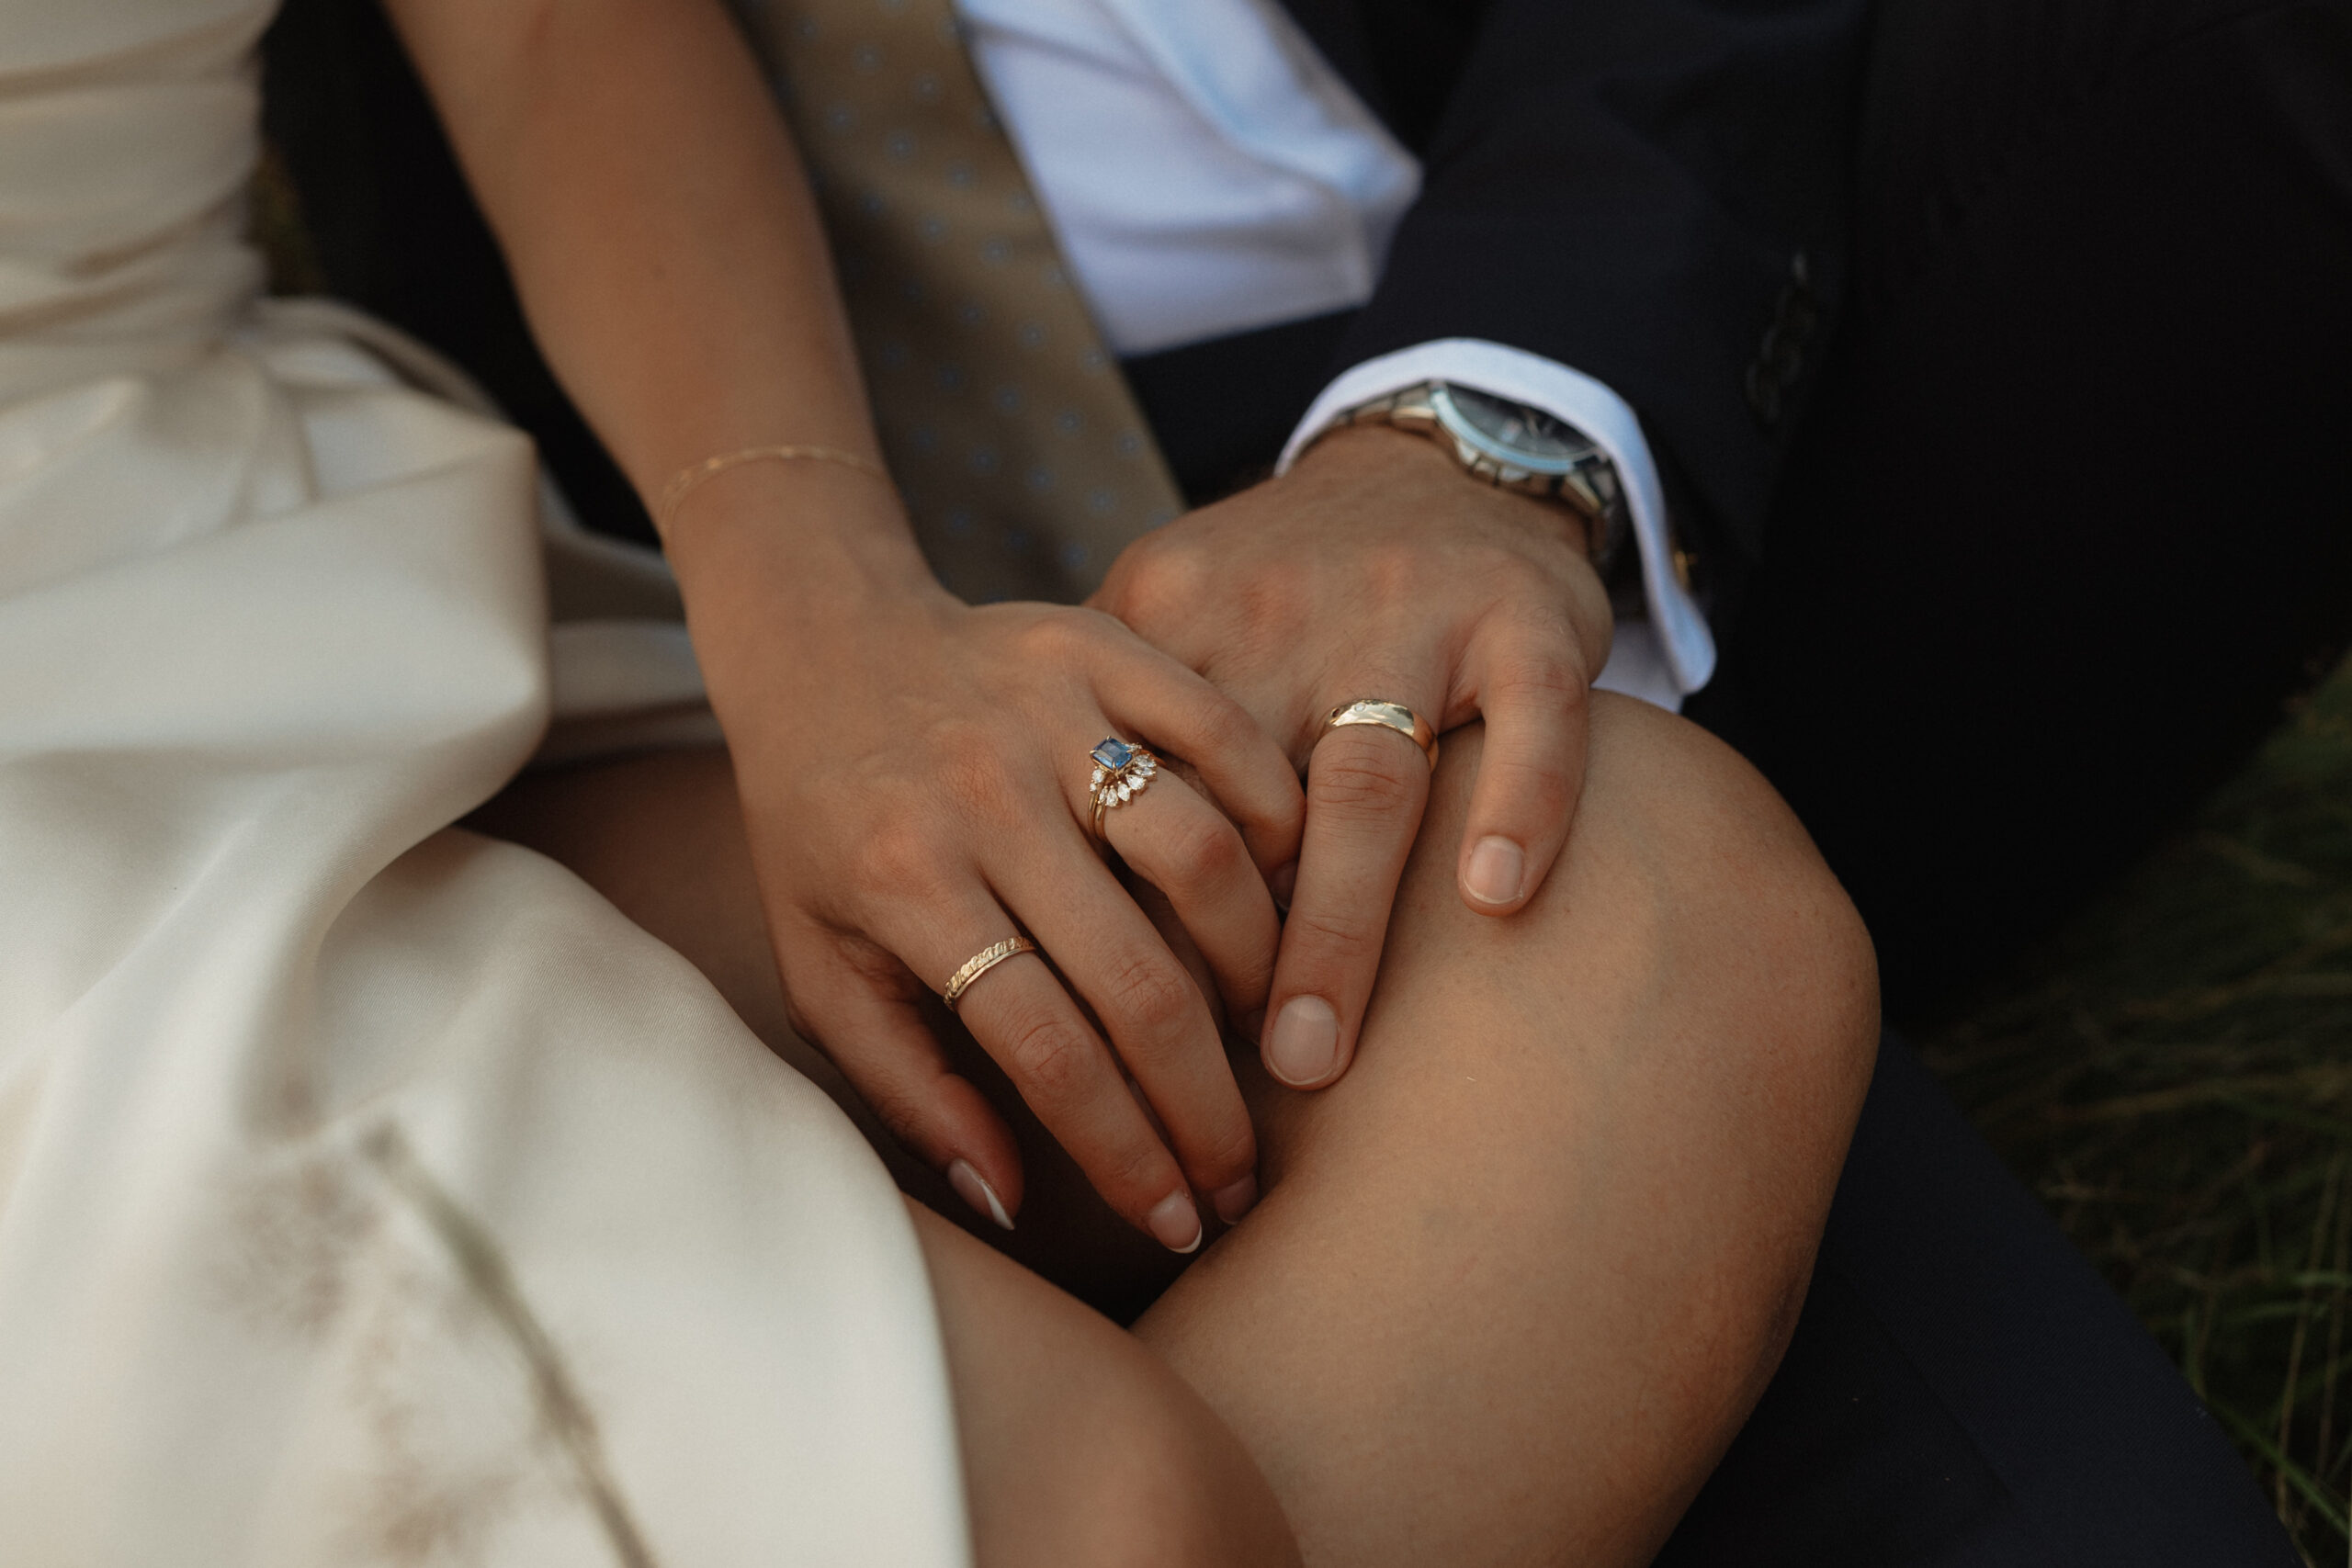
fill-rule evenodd
<path id="1" fill-rule="evenodd" d="M 1423 381 L 1451 381 L 1494 397 L 1524 402 L 1583 430 L 1616 463 L 1625 487 L 1625 510 L 1632 515 L 1635 548 L 1642 552 L 1642 588 L 1649 625 L 1618 628 L 1609 665 L 1592 684 L 1656 703 L 1682 708 L 1715 675 L 1715 632 L 1698 614 L 1682 578 L 1675 576 L 1675 548 L 1665 534 L 1665 489 L 1658 463 L 1642 440 L 1642 421 L 1632 404 L 1606 386 L 1541 355 L 1482 339 L 1437 339 L 1399 348 L 1378 360 L 1364 360 L 1322 390 L 1322 397 L 1298 421 L 1275 473 L 1287 470 L 1310 440 L 1322 435 L 1348 409 L 1402 393 Z"/>

